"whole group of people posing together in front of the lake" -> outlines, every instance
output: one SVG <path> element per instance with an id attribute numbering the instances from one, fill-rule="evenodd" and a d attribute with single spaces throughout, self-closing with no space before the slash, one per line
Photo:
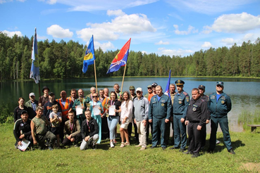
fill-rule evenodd
<path id="1" fill-rule="evenodd" d="M 149 132 L 151 132 L 151 147 L 161 145 L 163 150 L 170 144 L 171 127 L 173 129 L 173 147 L 180 152 L 192 154 L 197 158 L 206 143 L 206 124 L 211 120 L 211 136 L 208 152 L 216 147 L 216 132 L 220 124 L 224 143 L 228 152 L 235 154 L 231 146 L 228 130 L 228 112 L 231 110 L 230 97 L 223 92 L 223 82 L 216 83 L 216 92 L 204 95 L 205 87 L 199 85 L 192 89 L 192 98 L 183 90 L 185 82 L 176 80 L 169 87 L 169 93 L 164 94 L 161 86 L 155 82 L 147 86 L 148 93 L 143 96 L 142 88 L 129 87 L 123 93 L 115 84 L 109 94 L 109 89 L 90 89 L 90 94 L 84 96 L 82 89 L 71 89 L 70 96 L 61 91 L 61 98 L 55 99 L 55 94 L 44 87 L 43 96 L 35 100 L 35 94 L 30 93 L 30 100 L 18 99 L 18 107 L 14 110 L 13 134 L 15 146 L 22 145 L 26 139 L 30 147 L 39 144 L 40 148 L 53 150 L 54 145 L 80 146 L 80 150 L 97 148 L 102 139 L 110 139 L 110 147 L 116 143 L 117 125 L 120 124 L 120 147 L 130 146 L 132 127 L 135 129 L 136 147 L 147 148 Z M 175 92 L 175 89 L 178 91 Z M 25 104 L 24 104 L 25 103 Z M 171 126 L 172 124 L 172 126 Z M 150 129 L 150 130 L 149 130 Z M 187 134 L 189 146 L 187 146 Z"/>

